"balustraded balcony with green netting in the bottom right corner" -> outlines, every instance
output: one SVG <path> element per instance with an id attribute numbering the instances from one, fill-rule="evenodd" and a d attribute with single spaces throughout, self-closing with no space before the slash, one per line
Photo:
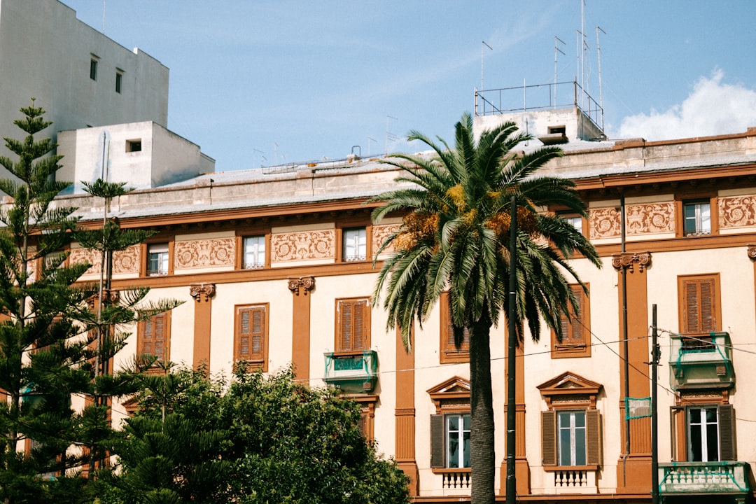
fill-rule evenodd
<path id="1" fill-rule="evenodd" d="M 672 462 L 659 464 L 659 494 L 732 495 L 750 493 L 746 462 Z"/>

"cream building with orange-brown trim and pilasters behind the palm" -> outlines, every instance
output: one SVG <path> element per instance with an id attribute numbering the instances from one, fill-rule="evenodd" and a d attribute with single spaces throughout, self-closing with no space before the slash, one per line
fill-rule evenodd
<path id="1" fill-rule="evenodd" d="M 578 185 L 589 215 L 564 217 L 593 241 L 604 264 L 596 270 L 573 261 L 590 295 L 581 296 L 579 320 L 568 323 L 562 342 L 544 331 L 519 351 L 519 499 L 650 501 L 649 403 L 626 408 L 624 399 L 651 395 L 652 305 L 662 348 L 662 497 L 749 499 L 756 463 L 756 405 L 748 393 L 756 369 L 756 128 L 676 141 L 586 141 L 563 124 L 579 113 L 549 112 L 545 133 L 534 134 L 567 141 L 565 156 L 544 172 Z M 143 123 L 133 129 L 156 131 Z M 113 131 L 111 150 L 125 149 L 113 145 L 129 135 Z M 61 146 L 76 153 L 73 165 L 91 164 L 79 147 L 89 142 L 84 137 L 61 135 L 75 144 Z M 153 138 L 153 152 L 171 148 L 169 138 Z M 469 499 L 469 369 L 466 349 L 449 343 L 443 304 L 416 327 L 412 354 L 386 332 L 383 310 L 371 308 L 381 260 L 373 267 L 373 255 L 401 221 L 371 221 L 364 202 L 395 187 L 398 172 L 380 159 L 352 157 L 161 185 L 154 161 L 114 156 L 111 173 L 126 172 L 152 185 L 116 199 L 110 215 L 159 233 L 116 254 L 113 286 L 136 282 L 152 287 L 150 297 L 186 302 L 135 328 L 119 360 L 150 351 L 227 373 L 239 361 L 268 373 L 293 363 L 298 379 L 339 386 L 361 402 L 365 434 L 411 476 L 416 502 Z M 89 196 L 60 203 L 79 207 L 85 224 L 101 220 L 103 203 Z M 76 246 L 71 252 L 71 261 L 95 264 L 85 278 L 98 278 L 97 257 Z M 499 494 L 506 325 L 501 321 L 491 338 Z M 114 422 L 127 414 L 117 404 L 113 413 Z"/>

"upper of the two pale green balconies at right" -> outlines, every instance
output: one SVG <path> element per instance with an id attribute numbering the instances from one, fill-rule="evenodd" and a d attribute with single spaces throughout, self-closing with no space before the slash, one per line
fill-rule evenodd
<path id="1" fill-rule="evenodd" d="M 727 332 L 708 338 L 673 335 L 670 342 L 669 382 L 674 390 L 731 388 L 735 385 L 733 347 Z"/>

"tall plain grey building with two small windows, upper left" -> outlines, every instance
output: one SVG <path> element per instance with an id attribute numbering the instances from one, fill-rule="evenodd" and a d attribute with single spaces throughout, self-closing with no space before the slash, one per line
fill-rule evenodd
<path id="1" fill-rule="evenodd" d="M 58 0 L 0 0 L 0 138 L 36 98 L 58 131 L 122 122 L 168 125 L 169 70 L 76 19 Z M 8 155 L 5 144 L 0 154 Z M 2 169 L 0 175 L 7 173 Z"/>

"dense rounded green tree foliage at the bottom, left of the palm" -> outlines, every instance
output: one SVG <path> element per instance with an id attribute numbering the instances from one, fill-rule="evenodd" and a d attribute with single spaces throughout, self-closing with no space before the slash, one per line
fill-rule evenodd
<path id="1" fill-rule="evenodd" d="M 104 502 L 407 502 L 404 473 L 362 437 L 358 405 L 290 369 L 230 384 L 180 369 L 139 397 Z"/>

